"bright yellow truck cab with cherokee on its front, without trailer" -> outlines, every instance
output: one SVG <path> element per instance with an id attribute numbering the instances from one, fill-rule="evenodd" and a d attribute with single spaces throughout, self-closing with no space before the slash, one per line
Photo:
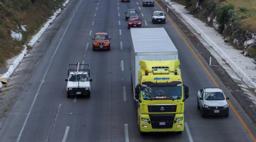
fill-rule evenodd
<path id="1" fill-rule="evenodd" d="M 138 125 L 144 132 L 184 130 L 184 101 L 188 86 L 182 83 L 179 60 L 140 60 L 138 85 Z"/>

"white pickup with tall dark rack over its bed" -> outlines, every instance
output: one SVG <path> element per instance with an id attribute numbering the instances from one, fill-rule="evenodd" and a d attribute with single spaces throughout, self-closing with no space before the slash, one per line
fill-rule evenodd
<path id="1" fill-rule="evenodd" d="M 79 69 L 79 65 L 81 68 Z M 68 64 L 67 97 L 71 95 L 86 95 L 88 98 L 91 93 L 90 68 L 89 64 Z"/>

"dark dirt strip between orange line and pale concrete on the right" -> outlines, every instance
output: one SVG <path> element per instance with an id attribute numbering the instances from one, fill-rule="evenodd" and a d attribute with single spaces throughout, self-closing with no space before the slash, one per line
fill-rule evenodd
<path id="1" fill-rule="evenodd" d="M 157 2 L 161 5 L 161 7 L 167 9 L 167 3 L 162 0 L 157 0 Z M 165 11 L 166 12 L 166 11 Z M 167 13 L 167 12 L 166 12 Z M 179 26 L 182 32 L 188 37 L 188 39 L 192 42 L 192 44 L 196 47 L 199 53 L 204 57 L 206 61 L 210 60 L 211 53 L 204 47 L 204 45 L 197 39 L 197 37 L 190 32 L 188 27 L 176 16 L 179 15 L 176 11 L 170 10 L 168 15 L 172 18 L 172 20 Z M 236 99 L 236 101 L 241 105 L 246 114 L 251 118 L 252 122 L 256 124 L 256 108 L 250 107 L 254 106 L 246 93 L 237 85 L 236 82 L 229 76 L 227 71 L 217 62 L 217 60 L 212 57 L 212 70 L 215 74 L 220 78 L 222 83 L 227 87 L 228 91 L 232 94 L 232 96 Z"/>

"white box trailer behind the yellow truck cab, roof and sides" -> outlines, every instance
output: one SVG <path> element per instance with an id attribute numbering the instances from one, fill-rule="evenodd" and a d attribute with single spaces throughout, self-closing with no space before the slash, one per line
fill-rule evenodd
<path id="1" fill-rule="evenodd" d="M 163 27 L 131 28 L 130 31 L 132 90 L 135 99 L 140 60 L 175 60 L 178 59 L 178 50 Z"/>

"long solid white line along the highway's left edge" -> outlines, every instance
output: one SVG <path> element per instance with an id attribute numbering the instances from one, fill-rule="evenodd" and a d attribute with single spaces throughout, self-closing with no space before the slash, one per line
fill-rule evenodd
<path id="1" fill-rule="evenodd" d="M 81 0 L 80 3 L 78 4 L 78 6 L 76 7 L 76 10 L 78 9 L 78 7 L 79 7 L 79 5 L 82 3 L 82 1 L 83 1 L 83 0 Z M 71 21 L 72 21 L 74 15 L 76 14 L 76 10 L 75 10 L 74 14 L 73 14 L 72 17 L 71 17 L 71 19 L 70 19 L 70 21 L 69 21 L 69 23 L 68 23 L 68 26 L 69 26 L 69 24 L 71 23 Z M 62 37 L 61 37 L 61 39 L 60 39 L 60 41 L 59 41 L 59 44 L 57 45 L 57 47 L 56 47 L 56 49 L 55 49 L 55 51 L 54 51 L 54 53 L 53 53 L 53 55 L 52 55 L 52 58 L 51 58 L 51 60 L 50 60 L 50 62 L 49 62 L 49 64 L 48 64 L 48 66 L 47 66 L 47 68 L 46 68 L 46 71 L 45 71 L 45 73 L 44 73 L 44 77 L 43 77 L 43 79 L 42 79 L 42 81 L 41 81 L 41 83 L 40 83 L 40 85 L 39 85 L 39 88 L 38 88 L 37 91 L 36 91 L 36 95 L 35 95 L 35 97 L 34 97 L 34 100 L 33 100 L 32 104 L 31 104 L 30 108 L 29 108 L 28 115 L 27 115 L 27 117 L 26 117 L 26 119 L 25 119 L 25 122 L 23 123 L 23 126 L 22 126 L 22 128 L 21 128 L 21 130 L 20 130 L 20 134 L 19 134 L 19 136 L 18 136 L 16 142 L 19 142 L 19 141 L 20 141 L 20 137 L 21 137 L 21 135 L 22 135 L 22 132 L 23 132 L 23 130 L 24 130 L 24 128 L 25 128 L 27 122 L 28 122 L 28 117 L 30 116 L 31 110 L 32 110 L 32 108 L 33 108 L 33 106 L 34 106 L 34 104 L 35 104 L 35 101 L 36 101 L 36 98 L 37 98 L 37 96 L 38 96 L 38 93 L 39 93 L 39 91 L 40 91 L 40 89 L 41 89 L 41 87 L 42 87 L 42 84 L 43 84 L 43 82 L 44 82 L 44 78 L 46 77 L 46 74 L 47 74 L 47 72 L 48 72 L 48 70 L 49 70 L 49 68 L 50 68 L 50 65 L 52 64 L 53 57 L 55 56 L 57 50 L 59 49 L 60 43 L 61 43 L 61 41 L 62 41 L 64 35 L 65 35 L 66 32 L 67 32 L 68 26 L 65 28 L 65 31 L 64 31 L 64 33 L 63 33 L 63 35 L 62 35 Z"/>

